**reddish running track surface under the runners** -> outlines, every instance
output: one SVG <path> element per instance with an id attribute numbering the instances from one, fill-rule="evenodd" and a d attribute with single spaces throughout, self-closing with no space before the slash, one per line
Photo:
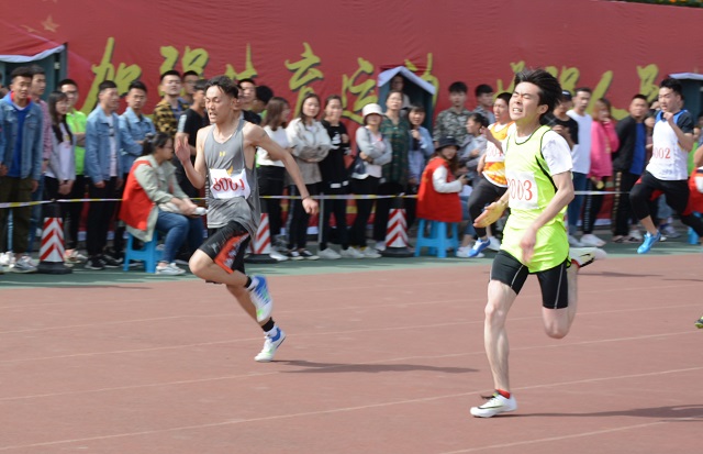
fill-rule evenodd
<path id="1" fill-rule="evenodd" d="M 0 452 L 701 452 L 700 255 L 583 269 L 561 341 L 531 278 L 509 322 L 520 409 L 481 420 L 486 263 L 272 277 L 271 364 L 220 286 L 0 290 Z"/>

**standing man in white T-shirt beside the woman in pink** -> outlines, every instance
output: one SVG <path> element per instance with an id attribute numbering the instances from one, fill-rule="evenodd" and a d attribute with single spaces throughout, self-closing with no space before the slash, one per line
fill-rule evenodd
<path id="1" fill-rule="evenodd" d="M 583 204 L 583 196 L 578 195 L 578 192 L 585 190 L 587 177 L 589 170 L 591 170 L 591 124 L 593 119 L 585 113 L 590 102 L 591 89 L 585 87 L 577 88 L 573 97 L 573 109 L 567 112 L 567 115 L 579 123 L 579 144 L 571 150 L 571 160 L 573 162 L 571 173 L 573 175 L 573 190 L 577 191 L 577 195 L 567 209 L 569 244 L 572 246 L 582 246 L 581 242 L 576 237 L 576 232 L 581 218 L 581 206 Z"/>

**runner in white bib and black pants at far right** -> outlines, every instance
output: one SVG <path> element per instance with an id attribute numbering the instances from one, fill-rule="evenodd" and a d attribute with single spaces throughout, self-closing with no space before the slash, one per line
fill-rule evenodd
<path id="1" fill-rule="evenodd" d="M 659 85 L 659 108 L 655 117 L 651 136 L 652 150 L 649 164 L 641 178 L 629 193 L 633 211 L 647 229 L 638 254 L 646 254 L 661 240 L 649 214 L 649 203 L 660 195 L 667 204 L 681 215 L 681 222 L 703 236 L 703 221 L 688 209 L 689 203 L 689 153 L 693 150 L 693 118 L 683 110 L 681 84 L 676 79 L 663 79 Z"/>

